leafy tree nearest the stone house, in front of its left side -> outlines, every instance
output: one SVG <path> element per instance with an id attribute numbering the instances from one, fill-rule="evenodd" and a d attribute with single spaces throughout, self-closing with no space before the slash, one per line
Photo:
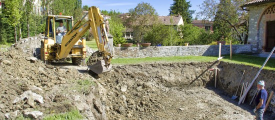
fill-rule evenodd
<path id="1" fill-rule="evenodd" d="M 214 29 L 218 29 L 220 37 L 238 37 L 243 43 L 241 32 L 247 31 L 248 13 L 240 5 L 247 0 L 204 0 L 199 5 L 202 11 L 198 12 L 202 19 L 214 19 Z M 235 34 L 235 35 L 234 35 Z"/>

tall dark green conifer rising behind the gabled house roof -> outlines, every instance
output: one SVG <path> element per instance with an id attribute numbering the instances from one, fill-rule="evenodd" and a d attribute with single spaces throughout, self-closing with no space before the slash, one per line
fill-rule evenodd
<path id="1" fill-rule="evenodd" d="M 184 22 L 191 23 L 192 14 L 195 12 L 195 10 L 189 10 L 191 6 L 190 1 L 186 2 L 186 0 L 173 0 L 173 4 L 171 4 L 169 9 L 169 15 L 180 14 Z"/>

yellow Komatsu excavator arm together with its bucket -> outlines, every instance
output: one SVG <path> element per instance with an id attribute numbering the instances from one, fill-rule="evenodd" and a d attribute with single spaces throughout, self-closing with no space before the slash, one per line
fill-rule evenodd
<path id="1" fill-rule="evenodd" d="M 77 26 L 81 23 L 82 19 L 88 15 L 88 21 L 83 23 L 80 27 Z M 60 51 L 57 54 L 57 57 L 64 58 L 66 57 L 73 45 L 78 41 L 78 39 L 89 29 L 92 30 L 92 35 L 95 39 L 98 51 L 101 52 L 103 60 L 96 62 L 95 64 L 88 66 L 90 70 L 99 74 L 102 72 L 109 71 L 111 69 L 110 60 L 112 58 L 111 50 L 110 52 L 106 51 L 105 43 L 107 43 L 108 48 L 108 37 L 105 29 L 104 19 L 100 14 L 99 8 L 91 6 L 88 10 L 88 13 L 83 16 L 81 20 L 78 20 L 75 25 L 72 26 L 72 29 L 69 30 L 62 38 Z M 101 67 L 102 66 L 102 67 Z"/>

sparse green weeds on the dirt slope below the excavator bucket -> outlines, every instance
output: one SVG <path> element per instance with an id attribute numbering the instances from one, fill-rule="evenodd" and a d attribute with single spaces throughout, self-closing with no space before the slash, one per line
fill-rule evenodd
<path id="1" fill-rule="evenodd" d="M 94 81 L 91 81 L 89 79 L 85 79 L 85 80 L 78 80 L 77 81 L 78 85 L 77 88 L 80 92 L 82 92 L 83 94 L 89 94 L 90 93 L 90 89 L 91 86 L 95 85 Z"/>

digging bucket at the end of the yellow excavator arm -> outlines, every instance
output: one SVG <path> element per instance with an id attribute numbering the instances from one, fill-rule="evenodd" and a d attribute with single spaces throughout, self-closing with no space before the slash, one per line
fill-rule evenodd
<path id="1" fill-rule="evenodd" d="M 111 70 L 111 64 L 108 66 L 105 64 L 104 60 L 99 60 L 95 64 L 88 65 L 89 70 L 93 71 L 96 74 L 108 72 Z"/>

